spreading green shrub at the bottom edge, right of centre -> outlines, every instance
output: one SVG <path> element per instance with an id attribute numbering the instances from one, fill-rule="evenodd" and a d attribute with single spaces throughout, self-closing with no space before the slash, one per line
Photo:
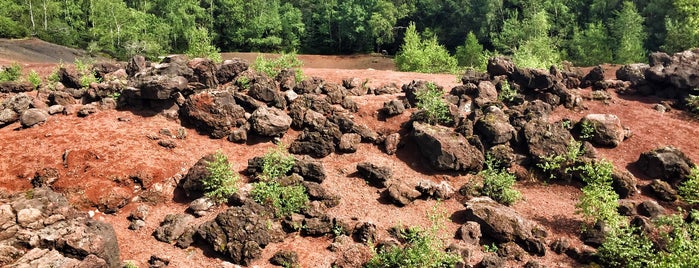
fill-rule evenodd
<path id="1" fill-rule="evenodd" d="M 365 267 L 454 267 L 461 257 L 445 252 L 444 242 L 439 237 L 443 228 L 444 212 L 438 213 L 436 206 L 428 213 L 432 226 L 425 231 L 419 227 L 397 227 L 396 236 L 404 242 L 403 247 L 384 247 L 374 252 Z"/>

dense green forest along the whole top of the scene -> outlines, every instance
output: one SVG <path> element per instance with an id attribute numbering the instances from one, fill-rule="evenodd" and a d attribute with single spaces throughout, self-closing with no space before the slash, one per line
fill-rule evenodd
<path id="1" fill-rule="evenodd" d="M 202 42 L 220 51 L 394 54 L 412 25 L 460 65 L 493 54 L 534 66 L 641 62 L 649 51 L 699 46 L 699 0 L 0 0 L 0 37 L 122 59 Z"/>

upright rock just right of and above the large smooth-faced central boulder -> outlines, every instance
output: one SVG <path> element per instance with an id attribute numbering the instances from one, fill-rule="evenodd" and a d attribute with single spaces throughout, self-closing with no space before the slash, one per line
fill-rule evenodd
<path id="1" fill-rule="evenodd" d="M 515 128 L 505 113 L 496 106 L 485 109 L 483 117 L 476 121 L 474 131 L 488 145 L 506 144 L 515 137 Z"/>

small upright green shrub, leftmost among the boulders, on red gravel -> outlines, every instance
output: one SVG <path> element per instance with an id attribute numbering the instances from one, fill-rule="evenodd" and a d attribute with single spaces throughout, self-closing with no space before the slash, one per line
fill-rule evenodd
<path id="1" fill-rule="evenodd" d="M 209 176 L 202 181 L 204 193 L 214 202 L 225 202 L 238 191 L 238 175 L 233 172 L 228 157 L 221 151 L 214 154 L 214 161 L 206 163 L 206 169 Z"/>

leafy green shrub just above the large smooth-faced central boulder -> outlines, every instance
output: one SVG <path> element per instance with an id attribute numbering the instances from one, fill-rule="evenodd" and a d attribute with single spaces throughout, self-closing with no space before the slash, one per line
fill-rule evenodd
<path id="1" fill-rule="evenodd" d="M 432 82 L 425 84 L 424 89 L 415 92 L 417 108 L 425 111 L 430 124 L 448 124 L 452 122 L 449 115 L 449 105 L 444 101 L 443 94 Z"/>

